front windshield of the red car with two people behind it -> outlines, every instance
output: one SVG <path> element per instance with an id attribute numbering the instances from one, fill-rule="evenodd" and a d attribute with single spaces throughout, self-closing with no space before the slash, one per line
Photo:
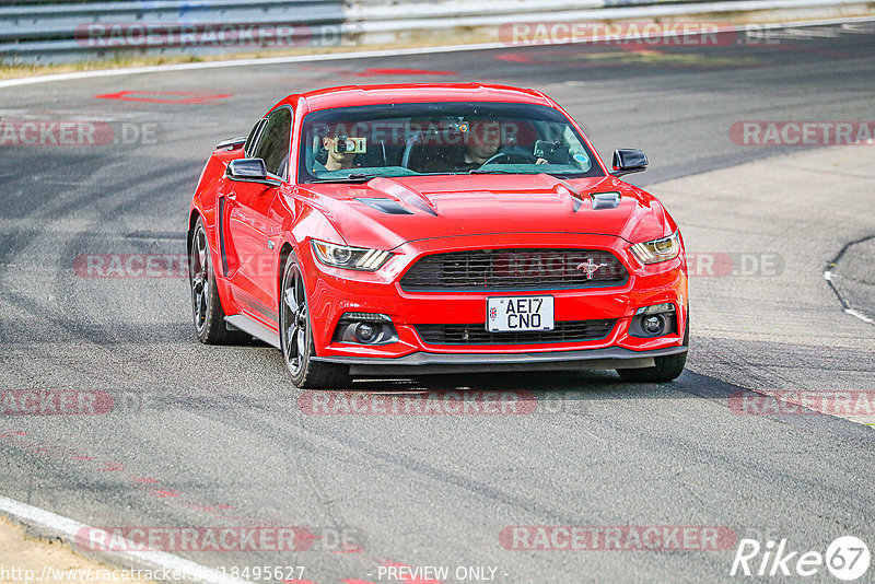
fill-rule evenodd
<path id="1" fill-rule="evenodd" d="M 299 180 L 375 176 L 539 174 L 604 176 L 558 110 L 533 104 L 381 104 L 304 118 Z"/>

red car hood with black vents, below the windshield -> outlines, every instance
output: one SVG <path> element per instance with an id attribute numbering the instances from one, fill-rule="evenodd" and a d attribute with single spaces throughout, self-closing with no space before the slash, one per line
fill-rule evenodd
<path id="1" fill-rule="evenodd" d="M 620 192 L 616 208 L 592 195 Z M 614 176 L 441 175 L 303 185 L 299 197 L 353 246 L 392 249 L 406 242 L 497 233 L 590 233 L 629 243 L 676 227 L 648 192 Z"/>

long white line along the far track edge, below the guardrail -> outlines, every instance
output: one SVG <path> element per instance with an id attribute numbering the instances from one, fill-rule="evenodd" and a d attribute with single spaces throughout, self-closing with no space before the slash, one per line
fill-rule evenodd
<path id="1" fill-rule="evenodd" d="M 825 26 L 830 24 L 849 24 L 855 22 L 873 22 L 873 16 L 860 16 L 852 19 L 831 19 L 818 21 L 801 21 L 801 22 L 785 22 L 785 23 L 770 23 L 770 24 L 750 24 L 751 28 L 756 31 L 768 31 L 775 28 L 798 28 L 803 26 Z M 730 33 L 735 31 L 745 31 L 746 25 L 739 24 L 737 26 L 723 26 L 716 30 L 718 33 Z M 701 34 L 700 32 L 691 32 L 688 35 Z M 686 36 L 682 32 L 664 31 L 655 35 L 643 35 L 643 38 L 662 38 L 665 36 Z M 580 39 L 580 40 L 564 40 L 558 43 L 550 43 L 550 45 L 574 45 L 597 43 L 600 38 Z M 542 45 L 539 45 L 542 46 Z M 472 45 L 448 45 L 443 47 L 413 47 L 402 49 L 381 49 L 381 50 L 359 50 L 353 52 L 330 52 L 320 55 L 291 55 L 287 57 L 260 57 L 256 59 L 231 59 L 225 61 L 206 61 L 206 62 L 187 62 L 178 65 L 153 65 L 149 67 L 131 67 L 127 69 L 102 69 L 97 71 L 78 71 L 74 73 L 56 73 L 50 75 L 37 75 L 18 79 L 7 79 L 0 81 L 0 87 L 14 87 L 18 85 L 32 85 L 35 83 L 49 83 L 55 81 L 73 81 L 78 79 L 93 79 L 101 77 L 118 77 L 118 75 L 133 75 L 141 73 L 168 73 L 173 71 L 189 71 L 196 69 L 221 69 L 225 67 L 258 67 L 264 65 L 282 65 L 295 62 L 314 62 L 314 61 L 342 61 L 348 59 L 368 59 L 373 57 L 400 57 L 410 55 L 432 55 L 441 52 L 458 52 L 468 50 L 491 50 L 499 48 L 523 48 L 524 45 L 515 46 L 508 43 L 479 43 Z"/>

